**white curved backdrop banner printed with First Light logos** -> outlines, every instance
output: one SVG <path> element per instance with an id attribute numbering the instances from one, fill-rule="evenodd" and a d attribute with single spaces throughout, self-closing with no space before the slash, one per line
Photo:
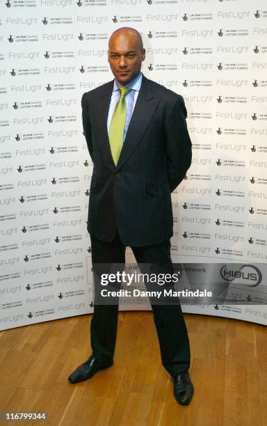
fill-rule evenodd
<path id="1" fill-rule="evenodd" d="M 244 282 L 242 268 L 257 267 L 247 301 L 263 300 L 266 0 L 0 0 L 0 330 L 92 313 L 81 95 L 113 78 L 108 38 L 121 26 L 143 36 L 145 76 L 188 110 L 193 164 L 172 194 L 174 262 L 200 264 L 188 270 L 202 282 L 205 262 L 238 262 Z M 267 317 L 264 304 L 184 311 Z"/>

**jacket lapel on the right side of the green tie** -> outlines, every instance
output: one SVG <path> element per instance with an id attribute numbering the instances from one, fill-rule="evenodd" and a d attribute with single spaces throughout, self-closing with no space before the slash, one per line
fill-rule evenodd
<path id="1" fill-rule="evenodd" d="M 136 100 L 136 105 L 131 116 L 127 135 L 120 153 L 120 158 L 117 164 L 117 168 L 129 159 L 133 150 L 136 149 L 141 137 L 143 136 L 145 129 L 149 125 L 152 115 L 159 103 L 159 98 L 154 97 L 152 87 L 149 84 L 149 80 L 143 76 L 142 84 Z"/>

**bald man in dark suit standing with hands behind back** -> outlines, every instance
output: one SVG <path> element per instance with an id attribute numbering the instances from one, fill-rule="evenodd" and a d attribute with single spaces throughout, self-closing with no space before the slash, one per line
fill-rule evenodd
<path id="1" fill-rule="evenodd" d="M 115 79 L 84 93 L 83 129 L 94 164 L 90 184 L 88 232 L 92 266 L 122 264 L 130 246 L 138 264 L 172 269 L 171 192 L 191 164 L 186 107 L 180 95 L 145 78 L 140 34 L 115 31 L 108 62 Z M 174 379 L 174 394 L 188 404 L 190 347 L 179 303 L 153 304 L 163 366 Z M 92 355 L 70 374 L 70 383 L 92 377 L 113 364 L 118 304 L 95 304 Z"/>

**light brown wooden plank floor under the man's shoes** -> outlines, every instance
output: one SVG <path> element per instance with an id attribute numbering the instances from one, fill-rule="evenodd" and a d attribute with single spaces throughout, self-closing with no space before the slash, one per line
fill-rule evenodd
<path id="1" fill-rule="evenodd" d="M 67 377 L 90 355 L 91 315 L 0 332 L 0 411 L 44 411 L 49 420 L 41 424 L 56 426 L 266 426 L 266 327 L 185 318 L 195 385 L 189 406 L 172 395 L 152 313 L 127 312 L 113 367 L 76 385 Z"/>

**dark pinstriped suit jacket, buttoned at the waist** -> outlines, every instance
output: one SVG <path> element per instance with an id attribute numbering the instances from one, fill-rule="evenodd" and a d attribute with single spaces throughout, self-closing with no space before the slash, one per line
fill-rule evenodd
<path id="1" fill-rule="evenodd" d="M 191 165 L 184 99 L 143 76 L 118 165 L 106 122 L 113 81 L 84 93 L 83 131 L 94 168 L 88 232 L 125 246 L 149 246 L 172 236 L 170 193 Z"/>

